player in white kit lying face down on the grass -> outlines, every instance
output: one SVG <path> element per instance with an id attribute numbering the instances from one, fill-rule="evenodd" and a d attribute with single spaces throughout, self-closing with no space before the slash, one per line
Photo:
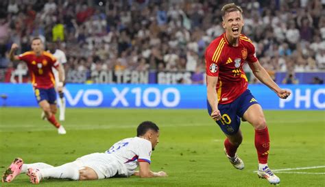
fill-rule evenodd
<path id="1" fill-rule="evenodd" d="M 42 179 L 91 180 L 110 177 L 167 177 L 164 171 L 150 171 L 152 151 L 159 142 L 159 128 L 151 121 L 144 121 L 136 129 L 136 137 L 125 138 L 105 153 L 92 153 L 62 166 L 53 167 L 42 162 L 23 164 L 21 158 L 3 173 L 3 182 L 12 182 L 20 173 L 26 173 L 30 182 L 38 184 Z M 135 171 L 139 165 L 139 171 Z"/>

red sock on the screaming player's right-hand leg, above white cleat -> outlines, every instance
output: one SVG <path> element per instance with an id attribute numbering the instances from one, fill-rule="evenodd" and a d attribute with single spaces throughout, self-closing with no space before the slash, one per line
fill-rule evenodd
<path id="1" fill-rule="evenodd" d="M 269 155 L 269 130 L 267 127 L 262 130 L 255 129 L 255 147 L 260 164 L 267 164 Z"/>

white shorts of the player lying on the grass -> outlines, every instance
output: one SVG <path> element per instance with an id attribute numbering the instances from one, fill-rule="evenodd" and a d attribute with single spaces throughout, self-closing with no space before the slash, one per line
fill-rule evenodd
<path id="1" fill-rule="evenodd" d="M 98 179 L 113 177 L 119 173 L 119 164 L 112 160 L 107 153 L 92 153 L 77 158 L 73 163 L 82 167 L 90 167 L 98 176 Z"/>

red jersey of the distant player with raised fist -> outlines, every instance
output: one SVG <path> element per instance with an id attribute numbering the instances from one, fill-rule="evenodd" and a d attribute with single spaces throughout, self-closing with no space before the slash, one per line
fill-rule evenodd
<path id="1" fill-rule="evenodd" d="M 55 84 L 52 66 L 58 67 L 59 62 L 51 53 L 43 51 L 42 55 L 36 56 L 34 51 L 28 51 L 19 55 L 19 60 L 26 62 L 35 88 L 52 88 Z"/>

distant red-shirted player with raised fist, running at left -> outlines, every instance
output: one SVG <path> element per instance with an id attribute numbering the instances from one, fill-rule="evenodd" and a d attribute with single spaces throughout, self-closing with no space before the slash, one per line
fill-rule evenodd
<path id="1" fill-rule="evenodd" d="M 56 90 L 52 73 L 52 67 L 58 70 L 60 79 L 58 92 L 62 92 L 62 66 L 51 53 L 44 51 L 43 42 L 40 38 L 32 40 L 32 51 L 14 55 L 17 49 L 18 45 L 12 44 L 9 53 L 10 60 L 12 62 L 22 60 L 27 64 L 38 105 L 45 112 L 47 120 L 58 129 L 58 134 L 66 134 L 64 127 L 56 121 Z"/>

